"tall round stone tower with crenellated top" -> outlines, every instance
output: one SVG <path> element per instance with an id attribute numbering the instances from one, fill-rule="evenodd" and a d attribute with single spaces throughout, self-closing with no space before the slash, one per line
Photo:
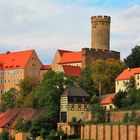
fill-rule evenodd
<path id="1" fill-rule="evenodd" d="M 110 22 L 109 16 L 91 17 L 91 47 L 94 49 L 110 50 Z"/>

